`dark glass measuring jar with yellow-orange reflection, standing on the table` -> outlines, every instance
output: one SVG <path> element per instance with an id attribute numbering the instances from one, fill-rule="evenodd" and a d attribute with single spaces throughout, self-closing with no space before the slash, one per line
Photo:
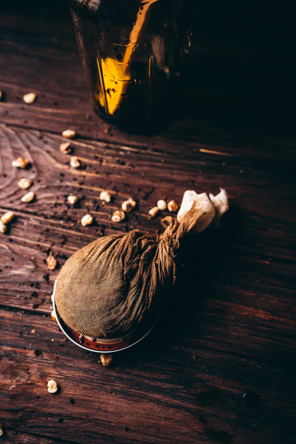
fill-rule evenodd
<path id="1" fill-rule="evenodd" d="M 145 123 L 169 112 L 190 46 L 180 0 L 71 0 L 91 101 L 99 114 Z"/>

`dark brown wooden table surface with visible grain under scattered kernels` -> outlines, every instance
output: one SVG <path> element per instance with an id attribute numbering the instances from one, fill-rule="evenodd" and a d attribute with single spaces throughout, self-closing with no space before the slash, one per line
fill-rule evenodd
<path id="1" fill-rule="evenodd" d="M 184 93 L 191 106 L 157 134 L 132 135 L 91 111 L 69 12 L 47 7 L 8 5 L 0 15 L 0 213 L 16 213 L 0 234 L 0 440 L 295 442 L 295 138 L 279 91 L 269 107 L 254 42 L 197 33 L 185 67 L 199 73 Z M 26 105 L 30 91 L 38 99 Z M 79 170 L 59 152 L 69 127 Z M 26 171 L 11 166 L 20 155 L 32 162 Z M 20 202 L 23 176 L 34 182 L 30 204 Z M 231 198 L 221 230 L 182 268 L 145 341 L 105 368 L 65 340 L 50 296 L 71 254 L 102 234 L 161 229 L 160 217 L 147 217 L 159 198 L 221 186 Z M 113 195 L 106 206 L 103 189 Z M 68 194 L 79 195 L 76 208 Z M 129 196 L 138 210 L 112 223 Z M 83 228 L 87 212 L 95 223 Z"/>

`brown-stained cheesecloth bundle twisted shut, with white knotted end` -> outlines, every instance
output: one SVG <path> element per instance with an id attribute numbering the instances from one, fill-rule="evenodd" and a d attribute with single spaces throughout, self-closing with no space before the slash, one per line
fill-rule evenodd
<path id="1" fill-rule="evenodd" d="M 164 288 L 176 280 L 183 236 L 218 223 L 227 209 L 225 190 L 209 197 L 187 190 L 177 218 L 162 219 L 163 234 L 132 230 L 83 247 L 59 273 L 55 286 L 59 316 L 75 332 L 105 339 L 156 320 Z"/>

